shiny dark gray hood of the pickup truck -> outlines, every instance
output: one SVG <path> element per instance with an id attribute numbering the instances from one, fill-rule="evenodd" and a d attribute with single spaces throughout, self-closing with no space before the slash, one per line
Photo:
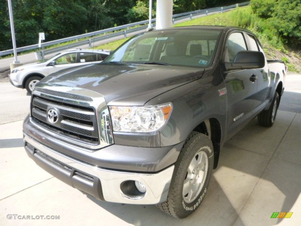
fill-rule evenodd
<path id="1" fill-rule="evenodd" d="M 155 96 L 202 77 L 204 69 L 151 64 L 98 63 L 60 71 L 43 83 L 100 93 L 108 105 L 144 105 Z"/>

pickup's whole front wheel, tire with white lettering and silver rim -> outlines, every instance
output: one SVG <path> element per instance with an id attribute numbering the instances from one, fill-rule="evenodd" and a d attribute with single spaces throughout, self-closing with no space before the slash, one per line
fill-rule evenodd
<path id="1" fill-rule="evenodd" d="M 202 203 L 213 170 L 213 146 L 208 136 L 193 131 L 187 138 L 172 176 L 163 212 L 185 218 Z"/>

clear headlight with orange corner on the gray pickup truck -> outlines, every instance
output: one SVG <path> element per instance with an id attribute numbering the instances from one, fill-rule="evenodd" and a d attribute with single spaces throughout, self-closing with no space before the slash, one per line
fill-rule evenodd
<path id="1" fill-rule="evenodd" d="M 172 104 L 156 106 L 110 106 L 115 132 L 150 133 L 163 127 Z"/>

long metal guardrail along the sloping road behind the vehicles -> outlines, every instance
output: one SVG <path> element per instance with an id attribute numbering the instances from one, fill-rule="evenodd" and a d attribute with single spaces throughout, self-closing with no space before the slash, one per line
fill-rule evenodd
<path id="1" fill-rule="evenodd" d="M 209 8 L 209 9 L 196 10 L 196 11 L 192 11 L 192 12 L 185 12 L 185 13 L 175 14 L 175 15 L 172 16 L 172 22 L 174 24 L 175 21 L 182 20 L 182 19 L 185 19 L 185 18 L 188 18 L 188 17 L 191 20 L 193 17 L 201 15 L 201 14 L 208 15 L 208 14 L 213 13 L 213 12 L 222 13 L 224 11 L 228 11 L 229 9 L 233 9 L 233 8 L 241 7 L 241 6 L 246 6 L 246 5 L 249 5 L 249 4 L 250 4 L 250 2 L 243 2 L 243 3 L 239 3 L 239 4 L 226 6 L 226 7 L 216 7 L 216 8 Z M 152 19 L 152 23 L 155 23 L 155 22 L 156 22 L 156 19 Z M 117 26 L 117 27 L 113 27 L 113 28 L 108 28 L 108 29 L 104 29 L 104 30 L 95 31 L 95 32 L 85 33 L 85 34 L 82 34 L 82 35 L 72 36 L 72 37 L 68 37 L 68 38 L 64 38 L 64 39 L 58 39 L 58 40 L 54 40 L 54 41 L 50 41 L 50 42 L 43 42 L 43 43 L 41 43 L 42 49 L 46 46 L 51 46 L 51 45 L 55 45 L 55 44 L 58 44 L 58 43 L 63 43 L 63 42 L 73 41 L 73 40 L 76 40 L 76 39 L 92 37 L 92 38 L 82 40 L 82 41 L 78 41 L 78 42 L 74 42 L 72 44 L 68 44 L 68 45 L 65 45 L 65 46 L 60 46 L 60 47 L 55 47 L 55 48 L 52 48 L 52 49 L 43 50 L 42 54 L 47 55 L 47 54 L 58 52 L 58 51 L 61 51 L 61 50 L 64 50 L 64 49 L 70 49 L 70 48 L 74 48 L 74 47 L 85 45 L 85 44 L 89 44 L 89 48 L 91 48 L 92 47 L 91 46 L 91 43 L 92 43 L 91 39 L 93 39 L 93 42 L 95 42 L 95 41 L 99 41 L 99 40 L 109 39 L 109 38 L 112 38 L 114 36 L 119 36 L 119 35 L 122 35 L 122 34 L 124 34 L 124 38 L 126 38 L 128 33 L 135 32 L 135 31 L 138 31 L 138 30 L 145 30 L 148 27 L 147 25 L 141 26 L 141 27 L 135 27 L 135 26 L 139 26 L 139 25 L 142 25 L 142 24 L 148 24 L 148 23 L 149 23 L 149 20 L 143 20 L 143 21 L 140 21 L 140 22 L 132 23 L 132 24 L 126 24 L 126 25 L 122 25 L 122 26 Z M 152 26 L 154 26 L 154 25 L 152 24 Z M 135 28 L 130 29 L 130 27 L 135 27 Z M 123 29 L 126 29 L 126 30 L 123 30 Z M 97 36 L 97 35 L 105 34 L 105 33 L 108 33 L 108 32 L 113 32 L 113 33 L 110 33 L 110 34 L 107 34 L 107 35 L 102 35 L 102 36 Z M 31 45 L 31 46 L 24 46 L 24 47 L 17 48 L 17 52 L 23 52 L 23 51 L 26 51 L 26 50 L 32 50 L 32 49 L 38 49 L 38 48 L 39 48 L 38 44 Z M 12 53 L 14 53 L 13 49 L 1 51 L 0 52 L 0 57 L 3 56 L 3 55 L 12 54 Z"/>

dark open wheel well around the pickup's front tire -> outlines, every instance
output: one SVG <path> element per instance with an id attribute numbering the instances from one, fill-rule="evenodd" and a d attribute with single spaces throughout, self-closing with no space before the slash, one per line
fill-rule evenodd
<path id="1" fill-rule="evenodd" d="M 219 152 L 222 139 L 222 129 L 219 120 L 217 120 L 216 118 L 209 118 L 198 124 L 197 127 L 193 129 L 193 131 L 207 135 L 212 141 L 214 152 L 213 168 L 215 169 L 219 162 Z"/>

